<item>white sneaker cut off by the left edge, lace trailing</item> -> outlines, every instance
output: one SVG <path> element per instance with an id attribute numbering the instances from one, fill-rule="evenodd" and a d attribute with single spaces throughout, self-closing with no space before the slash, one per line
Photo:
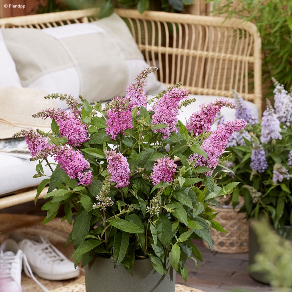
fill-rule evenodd
<path id="1" fill-rule="evenodd" d="M 32 274 L 27 258 L 13 239 L 7 239 L 0 246 L 0 292 L 21 292 L 22 262 L 28 277 L 31 277 L 45 292 L 43 286 Z"/>

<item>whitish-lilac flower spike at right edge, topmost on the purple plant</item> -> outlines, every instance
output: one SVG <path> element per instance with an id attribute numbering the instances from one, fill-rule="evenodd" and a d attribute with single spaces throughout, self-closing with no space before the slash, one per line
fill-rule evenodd
<path id="1" fill-rule="evenodd" d="M 274 82 L 274 108 L 280 123 L 290 126 L 292 123 L 292 96 L 285 90 L 284 85 L 272 77 Z"/>

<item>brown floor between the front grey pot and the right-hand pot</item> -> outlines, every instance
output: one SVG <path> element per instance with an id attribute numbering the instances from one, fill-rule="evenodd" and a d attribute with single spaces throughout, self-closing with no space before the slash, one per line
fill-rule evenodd
<path id="1" fill-rule="evenodd" d="M 196 240 L 194 244 L 203 256 L 196 270 L 193 260 L 187 260 L 189 278 L 187 284 L 177 274 L 176 282 L 186 286 L 200 289 L 204 292 L 226 292 L 234 288 L 245 291 L 272 291 L 270 286 L 253 280 L 247 273 L 248 253 L 218 253 L 205 248 L 202 241 Z"/>

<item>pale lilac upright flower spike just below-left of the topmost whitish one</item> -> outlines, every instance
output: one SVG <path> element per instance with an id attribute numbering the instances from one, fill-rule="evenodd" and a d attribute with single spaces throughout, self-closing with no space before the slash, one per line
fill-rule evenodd
<path id="1" fill-rule="evenodd" d="M 267 100 L 267 109 L 263 113 L 261 126 L 260 140 L 262 143 L 267 144 L 272 139 L 282 139 L 280 121 L 277 119 L 275 110 L 269 100 Z"/>

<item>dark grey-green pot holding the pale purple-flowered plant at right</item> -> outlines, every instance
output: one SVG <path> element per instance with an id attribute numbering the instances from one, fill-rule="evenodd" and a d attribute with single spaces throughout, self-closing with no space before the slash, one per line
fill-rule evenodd
<path id="1" fill-rule="evenodd" d="M 290 237 L 292 226 L 285 226 L 286 230 L 286 238 L 292 240 L 292 237 Z M 249 226 L 249 255 L 248 255 L 248 263 L 249 265 L 252 265 L 255 263 L 255 256 L 256 254 L 260 252 L 260 246 L 258 245 L 258 239 L 256 236 L 256 233 L 254 232 L 253 228 Z M 270 284 L 267 279 L 265 273 L 258 273 L 258 272 L 249 272 L 249 275 L 256 281 L 264 283 L 264 284 Z"/>

